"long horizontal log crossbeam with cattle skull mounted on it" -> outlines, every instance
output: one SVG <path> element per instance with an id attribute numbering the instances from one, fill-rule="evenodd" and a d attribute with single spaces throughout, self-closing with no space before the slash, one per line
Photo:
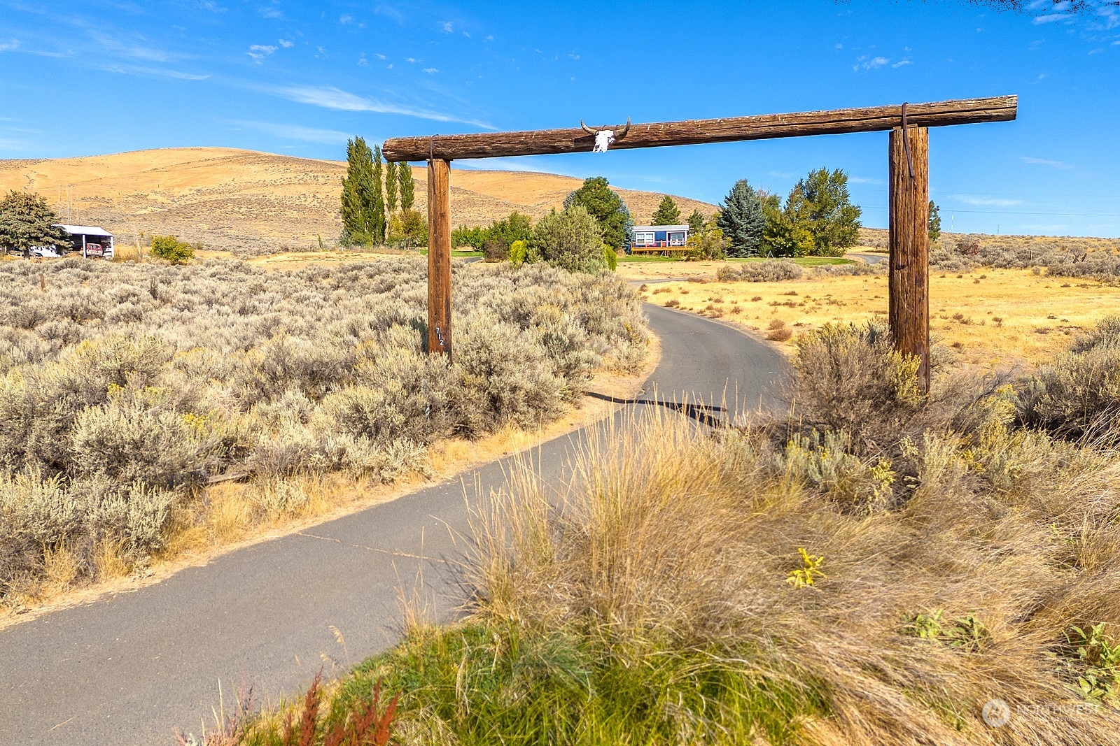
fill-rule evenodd
<path id="1" fill-rule="evenodd" d="M 909 126 L 930 128 L 983 122 L 1009 122 L 1018 110 L 1018 96 L 939 101 L 907 104 Z M 800 138 L 848 132 L 884 132 L 899 126 L 902 105 L 837 108 L 794 114 L 762 114 L 716 120 L 685 120 L 632 124 L 625 138 L 610 144 L 612 150 L 699 145 L 713 142 L 740 142 L 774 138 Z M 620 131 L 622 124 L 615 126 Z M 610 128 L 605 128 L 610 129 Z M 440 134 L 423 138 L 390 138 L 382 148 L 386 161 L 426 161 L 432 158 L 507 158 L 590 152 L 595 138 L 580 128 L 529 130 L 524 132 L 480 132 Z"/>

